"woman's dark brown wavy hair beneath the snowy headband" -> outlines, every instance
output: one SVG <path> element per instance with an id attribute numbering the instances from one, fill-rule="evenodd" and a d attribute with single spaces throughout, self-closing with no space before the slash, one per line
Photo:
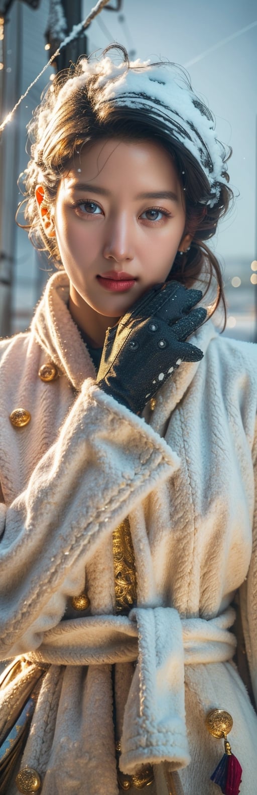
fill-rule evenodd
<path id="1" fill-rule="evenodd" d="M 112 47 L 123 52 L 124 60 L 129 64 L 127 51 L 122 45 L 109 45 L 103 55 Z M 165 62 L 154 65 L 163 66 Z M 177 69 L 183 73 L 187 87 L 191 87 L 189 76 L 181 68 Z M 208 200 L 211 197 L 211 189 L 201 165 L 189 149 L 173 138 L 170 131 L 165 129 L 165 125 L 146 110 L 106 103 L 104 115 L 101 114 L 99 118 L 94 102 L 95 80 L 98 75 L 92 74 L 87 81 L 80 81 L 74 91 L 68 94 L 68 99 L 64 97 L 62 104 L 57 103 L 56 108 L 56 99 L 64 83 L 81 74 L 83 72 L 79 60 L 76 66 L 57 75 L 51 87 L 45 92 L 41 105 L 36 109 L 29 124 L 31 159 L 24 174 L 21 175 L 25 188 L 23 192 L 25 199 L 21 205 L 25 204 L 24 216 L 29 222 L 23 227 L 29 230 L 29 238 L 33 245 L 40 250 L 48 250 L 56 266 L 62 267 L 56 238 L 48 238 L 41 225 L 35 198 L 37 184 L 44 185 L 44 201 L 49 207 L 53 207 L 61 176 L 67 171 L 75 155 L 80 154 L 84 145 L 103 138 L 122 138 L 129 142 L 154 141 L 165 148 L 177 167 L 181 186 L 185 192 L 185 234 L 188 233 L 193 237 L 189 251 L 182 255 L 177 254 L 175 257 L 169 279 L 176 279 L 187 286 L 200 279 L 204 282 L 204 286 L 206 285 L 205 293 L 207 293 L 212 277 L 215 277 L 217 293 L 212 312 L 215 311 L 220 300 L 226 312 L 220 265 L 205 241 L 215 235 L 218 220 L 228 211 L 232 200 L 231 188 L 228 184 L 220 183 L 219 199 L 214 207 L 210 207 Z M 203 114 L 213 118 L 204 103 L 201 100 L 199 103 Z M 228 147 L 226 151 L 223 147 L 223 153 L 222 176 L 225 176 L 228 183 L 229 176 L 225 164 L 231 156 L 232 149 Z"/>

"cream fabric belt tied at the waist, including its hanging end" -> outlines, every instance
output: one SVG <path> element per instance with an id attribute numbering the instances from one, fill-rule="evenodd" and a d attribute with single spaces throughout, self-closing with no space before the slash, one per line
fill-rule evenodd
<path id="1" fill-rule="evenodd" d="M 54 665 L 138 661 L 125 708 L 121 769 L 166 759 L 189 764 L 184 666 L 228 661 L 236 649 L 231 607 L 209 621 L 181 619 L 171 607 L 136 607 L 130 615 L 60 622 L 29 660 Z"/>

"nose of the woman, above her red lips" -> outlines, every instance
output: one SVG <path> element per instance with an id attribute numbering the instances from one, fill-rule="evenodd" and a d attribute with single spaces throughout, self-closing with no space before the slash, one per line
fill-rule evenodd
<path id="1" fill-rule="evenodd" d="M 127 213 L 115 215 L 106 227 L 106 236 L 103 245 L 103 257 L 120 263 L 131 261 L 134 258 L 132 221 Z"/>

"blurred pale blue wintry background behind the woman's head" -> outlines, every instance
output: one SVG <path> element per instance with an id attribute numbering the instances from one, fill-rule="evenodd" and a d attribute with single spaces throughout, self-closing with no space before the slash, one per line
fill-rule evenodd
<path id="1" fill-rule="evenodd" d="M 95 0 L 0 0 L 0 118 Z M 61 51 L 35 83 L 0 142 L 0 336 L 29 326 L 33 308 L 53 273 L 15 223 L 22 196 L 26 125 L 56 70 L 111 42 L 130 58 L 168 59 L 187 68 L 193 88 L 216 116 L 217 137 L 232 145 L 229 162 L 235 207 L 211 242 L 224 271 L 228 304 L 225 335 L 257 341 L 257 6 L 255 0 L 110 0 L 78 41 Z M 219 318 L 217 318 L 219 322 Z"/>

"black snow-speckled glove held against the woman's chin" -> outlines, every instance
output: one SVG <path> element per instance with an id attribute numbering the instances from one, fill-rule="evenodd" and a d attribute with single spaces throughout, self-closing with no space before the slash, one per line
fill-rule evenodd
<path id="1" fill-rule="evenodd" d="M 199 362 L 203 353 L 184 340 L 204 322 L 201 290 L 177 281 L 155 285 L 135 302 L 118 326 L 107 328 L 97 383 L 138 414 L 181 362 Z"/>

